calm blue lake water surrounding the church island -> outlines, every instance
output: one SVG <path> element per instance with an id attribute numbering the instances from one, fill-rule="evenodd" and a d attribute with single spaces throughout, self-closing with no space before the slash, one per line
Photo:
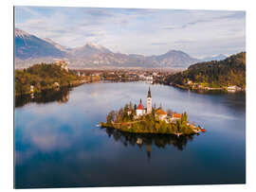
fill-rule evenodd
<path id="1" fill-rule="evenodd" d="M 188 113 L 192 136 L 96 127 L 151 88 L 156 106 Z M 100 82 L 16 99 L 16 188 L 246 183 L 246 95 L 196 94 L 145 82 Z M 137 140 L 142 143 L 137 144 Z"/>

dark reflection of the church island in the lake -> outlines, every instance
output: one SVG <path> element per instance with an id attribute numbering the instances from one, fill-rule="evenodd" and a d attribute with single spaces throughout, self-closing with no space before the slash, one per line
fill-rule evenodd
<path id="1" fill-rule="evenodd" d="M 183 150 L 189 141 L 192 141 L 193 135 L 176 136 L 173 134 L 141 134 L 119 131 L 113 128 L 101 128 L 106 131 L 109 137 L 113 136 L 116 142 L 121 143 L 124 147 L 128 145 L 139 148 L 146 148 L 148 159 L 151 158 L 152 145 L 156 148 L 166 148 L 173 146 L 178 150 Z"/>

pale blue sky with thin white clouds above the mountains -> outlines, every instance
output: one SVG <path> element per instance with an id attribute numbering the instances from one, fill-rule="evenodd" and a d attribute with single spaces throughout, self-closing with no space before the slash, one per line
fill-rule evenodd
<path id="1" fill-rule="evenodd" d="M 188 9 L 15 7 L 14 25 L 74 48 L 89 42 L 126 54 L 181 50 L 201 59 L 246 51 L 246 12 Z"/>

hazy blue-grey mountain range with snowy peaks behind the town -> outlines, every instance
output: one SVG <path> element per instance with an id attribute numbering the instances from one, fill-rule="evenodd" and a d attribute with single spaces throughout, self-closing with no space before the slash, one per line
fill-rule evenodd
<path id="1" fill-rule="evenodd" d="M 145 67 L 187 68 L 206 60 L 192 58 L 180 50 L 170 50 L 162 55 L 143 56 L 114 53 L 100 44 L 87 43 L 81 47 L 67 48 L 50 39 L 42 39 L 15 28 L 15 67 L 27 67 L 38 62 L 64 60 L 71 68 L 93 67 Z M 207 58 L 208 61 L 211 60 Z M 218 60 L 218 58 L 215 58 Z M 215 60 L 212 58 L 212 60 Z"/>

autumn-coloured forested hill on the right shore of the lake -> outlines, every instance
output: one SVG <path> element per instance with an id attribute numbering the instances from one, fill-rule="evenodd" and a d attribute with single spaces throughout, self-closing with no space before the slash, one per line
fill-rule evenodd
<path id="1" fill-rule="evenodd" d="M 166 77 L 164 83 L 192 90 L 243 91 L 246 89 L 246 52 L 223 61 L 192 64 L 188 70 Z"/>

